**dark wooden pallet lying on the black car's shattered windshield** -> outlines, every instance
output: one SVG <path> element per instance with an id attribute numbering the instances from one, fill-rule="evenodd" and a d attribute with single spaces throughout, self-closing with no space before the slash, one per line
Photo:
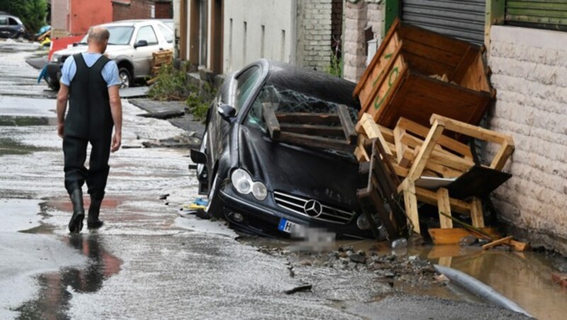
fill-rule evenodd
<path id="1" fill-rule="evenodd" d="M 278 113 L 264 103 L 264 120 L 271 139 L 308 147 L 354 152 L 357 132 L 346 105 L 337 113 Z"/>

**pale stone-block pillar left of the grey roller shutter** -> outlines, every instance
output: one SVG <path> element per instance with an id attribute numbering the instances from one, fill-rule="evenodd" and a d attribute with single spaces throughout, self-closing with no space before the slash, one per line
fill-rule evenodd
<path id="1" fill-rule="evenodd" d="M 357 81 L 366 69 L 366 33 L 369 28 L 374 38 L 380 38 L 383 21 L 383 1 L 366 0 L 356 4 L 346 2 L 343 45 L 343 77 Z"/>

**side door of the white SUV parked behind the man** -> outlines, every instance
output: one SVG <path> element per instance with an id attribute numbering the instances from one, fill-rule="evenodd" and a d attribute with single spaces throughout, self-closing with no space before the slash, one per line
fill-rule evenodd
<path id="1" fill-rule="evenodd" d="M 140 27 L 134 39 L 134 45 L 141 40 L 147 41 L 147 46 L 136 47 L 134 49 L 134 76 L 148 76 L 150 75 L 150 68 L 152 67 L 152 52 L 162 50 L 163 48 L 159 45 L 156 32 L 152 25 Z"/>

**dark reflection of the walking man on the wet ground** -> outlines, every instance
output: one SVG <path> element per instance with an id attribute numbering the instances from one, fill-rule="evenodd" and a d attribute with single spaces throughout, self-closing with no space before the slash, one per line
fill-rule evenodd
<path id="1" fill-rule="evenodd" d="M 97 234 L 77 234 L 64 241 L 88 257 L 88 265 L 40 275 L 38 298 L 16 309 L 20 319 L 68 319 L 72 292 L 96 292 L 104 280 L 120 272 L 120 259 L 104 250 Z"/>

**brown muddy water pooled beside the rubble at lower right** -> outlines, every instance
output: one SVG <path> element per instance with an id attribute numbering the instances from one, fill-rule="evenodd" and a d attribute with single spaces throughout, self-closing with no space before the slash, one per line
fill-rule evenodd
<path id="1" fill-rule="evenodd" d="M 244 238 L 240 241 L 254 246 L 274 248 L 291 248 L 296 245 L 293 241 L 263 238 Z M 336 250 L 339 246 L 352 246 L 354 251 L 372 249 L 381 255 L 392 252 L 387 243 L 376 244 L 370 240 L 333 241 L 327 247 Z M 551 280 L 551 273 L 557 270 L 552 267 L 551 258 L 544 253 L 534 251 L 520 253 L 499 249 L 482 250 L 477 246 L 429 245 L 410 246 L 405 254 L 417 255 L 427 258 L 432 263 L 461 270 L 490 285 L 537 319 L 565 319 L 563 308 L 567 302 L 567 288 L 556 285 Z M 449 285 L 450 290 L 435 287 L 405 287 L 403 289 L 412 295 L 434 295 L 445 299 L 480 301 L 469 292 L 454 285 Z"/>

